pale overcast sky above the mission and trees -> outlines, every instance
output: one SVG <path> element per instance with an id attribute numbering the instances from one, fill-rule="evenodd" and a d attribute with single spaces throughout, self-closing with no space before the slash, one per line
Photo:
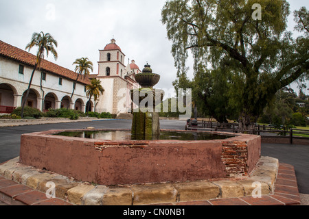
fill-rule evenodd
<path id="1" fill-rule="evenodd" d="M 301 6 L 308 9 L 309 1 L 288 2 L 288 28 L 293 31 L 293 11 Z M 73 70 L 76 58 L 89 57 L 93 73 L 98 73 L 98 50 L 115 38 L 126 55 L 125 64 L 134 59 L 142 70 L 149 62 L 152 70 L 161 75 L 156 88 L 170 89 L 176 68 L 170 53 L 172 42 L 161 23 L 164 3 L 165 0 L 0 0 L 0 40 L 25 49 L 34 32 L 49 33 L 58 41 L 58 60 L 53 60 L 52 55 L 47 60 Z M 30 52 L 35 53 L 36 49 Z"/>

